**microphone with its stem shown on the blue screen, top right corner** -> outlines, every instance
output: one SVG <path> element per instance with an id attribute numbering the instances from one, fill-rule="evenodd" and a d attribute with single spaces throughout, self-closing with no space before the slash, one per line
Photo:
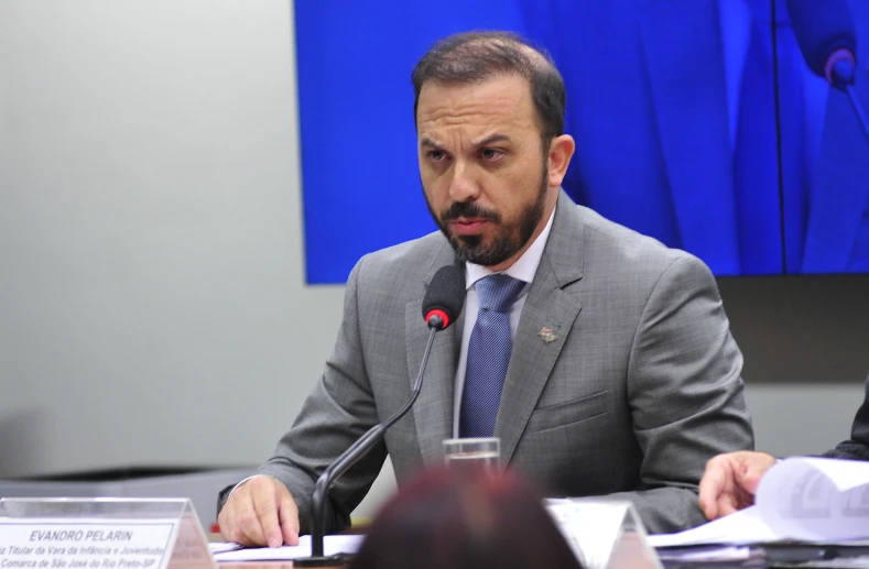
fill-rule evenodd
<path id="1" fill-rule="evenodd" d="M 857 33 L 845 0 L 786 0 L 791 26 L 806 65 L 851 101 L 869 140 L 869 122 L 854 92 L 857 76 Z"/>

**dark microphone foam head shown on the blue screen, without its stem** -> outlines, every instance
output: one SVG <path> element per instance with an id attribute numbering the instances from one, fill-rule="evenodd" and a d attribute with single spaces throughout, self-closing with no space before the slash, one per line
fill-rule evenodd
<path id="1" fill-rule="evenodd" d="M 826 78 L 829 56 L 837 50 L 857 54 L 854 19 L 845 0 L 786 0 L 791 26 L 806 65 Z"/>

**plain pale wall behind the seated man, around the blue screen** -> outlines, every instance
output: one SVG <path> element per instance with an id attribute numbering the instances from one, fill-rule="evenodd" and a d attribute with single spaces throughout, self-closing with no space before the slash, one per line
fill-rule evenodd
<path id="1" fill-rule="evenodd" d="M 294 85 L 286 1 L 0 2 L 0 475 L 271 453 L 341 304 L 304 286 Z M 861 396 L 752 386 L 759 446 Z"/>

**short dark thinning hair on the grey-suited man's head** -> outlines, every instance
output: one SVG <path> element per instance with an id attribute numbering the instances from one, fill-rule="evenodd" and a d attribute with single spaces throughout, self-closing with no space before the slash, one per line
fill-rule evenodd
<path id="1" fill-rule="evenodd" d="M 512 32 L 464 32 L 436 42 L 411 74 L 414 121 L 427 81 L 471 85 L 502 75 L 528 80 L 545 152 L 552 139 L 564 134 L 564 79 L 548 52 Z"/>

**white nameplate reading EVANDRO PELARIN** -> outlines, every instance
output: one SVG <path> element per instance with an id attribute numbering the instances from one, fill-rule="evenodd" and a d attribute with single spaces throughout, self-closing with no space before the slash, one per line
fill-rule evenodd
<path id="1" fill-rule="evenodd" d="M 0 569 L 165 569 L 177 519 L 0 517 Z"/>

